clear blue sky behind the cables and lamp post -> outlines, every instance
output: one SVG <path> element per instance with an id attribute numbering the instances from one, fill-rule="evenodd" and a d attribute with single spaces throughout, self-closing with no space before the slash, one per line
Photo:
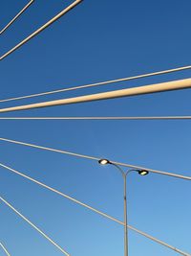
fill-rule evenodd
<path id="1" fill-rule="evenodd" d="M 27 3 L 1 1 L 1 28 Z M 0 37 L 1 55 L 72 1 L 36 0 Z M 84 1 L 31 42 L 0 62 L 1 99 L 89 82 L 113 80 L 190 65 L 191 3 L 185 1 Z M 190 78 L 191 71 L 122 82 L 6 107 Z M 1 116 L 190 115 L 191 90 Z M 0 136 L 56 149 L 107 157 L 190 175 L 191 121 L 0 121 Z M 0 143 L 0 162 L 123 218 L 122 178 L 112 166 L 58 153 Z M 73 256 L 123 255 L 123 229 L 1 168 L 0 195 Z M 190 183 L 161 176 L 128 176 L 128 221 L 191 252 Z M 0 240 L 12 256 L 62 255 L 0 204 Z M 175 252 L 129 232 L 130 256 Z M 0 255 L 4 255 L 0 252 Z"/>

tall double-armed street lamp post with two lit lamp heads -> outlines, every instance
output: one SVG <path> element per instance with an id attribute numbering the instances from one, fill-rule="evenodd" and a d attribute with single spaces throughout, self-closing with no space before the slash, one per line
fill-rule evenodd
<path id="1" fill-rule="evenodd" d="M 100 165 L 111 164 L 117 168 L 123 177 L 123 211 L 124 211 L 124 256 L 128 256 L 128 229 L 127 229 L 127 175 L 131 172 L 138 172 L 138 175 L 148 175 L 149 172 L 145 170 L 131 169 L 124 172 L 117 164 L 110 162 L 108 159 L 98 160 Z"/>

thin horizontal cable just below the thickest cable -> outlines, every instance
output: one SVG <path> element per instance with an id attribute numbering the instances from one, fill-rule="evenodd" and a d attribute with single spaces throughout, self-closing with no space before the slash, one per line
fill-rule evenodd
<path id="1" fill-rule="evenodd" d="M 190 120 L 191 116 L 0 117 L 0 120 Z"/>

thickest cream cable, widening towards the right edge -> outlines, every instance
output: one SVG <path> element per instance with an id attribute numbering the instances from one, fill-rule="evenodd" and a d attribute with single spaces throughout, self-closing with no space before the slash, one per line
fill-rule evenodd
<path id="1" fill-rule="evenodd" d="M 55 100 L 50 102 L 43 102 L 31 105 L 17 105 L 6 108 L 1 108 L 0 113 L 19 111 L 19 110 L 27 110 L 33 108 L 41 108 L 48 107 L 54 105 L 71 105 L 71 104 L 79 104 L 79 103 L 88 103 L 94 101 L 102 101 L 102 100 L 110 100 L 122 97 L 129 96 L 138 96 L 150 93 L 159 93 L 164 91 L 172 91 L 172 90 L 182 90 L 191 88 L 191 79 L 185 79 L 180 81 L 166 81 L 160 82 L 156 84 L 149 84 L 144 86 L 138 86 L 128 89 L 121 90 L 113 90 L 108 92 L 101 92 L 96 94 L 88 94 L 73 98 L 66 98 L 61 100 Z"/>

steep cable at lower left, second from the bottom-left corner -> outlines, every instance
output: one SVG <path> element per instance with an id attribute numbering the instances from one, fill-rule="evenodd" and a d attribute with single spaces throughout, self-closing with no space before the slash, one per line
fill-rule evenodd
<path id="1" fill-rule="evenodd" d="M 60 245 L 56 244 L 48 235 L 46 235 L 41 229 L 39 229 L 35 224 L 32 223 L 29 219 L 27 219 L 24 215 L 22 215 L 18 210 L 16 210 L 11 203 L 9 203 L 6 199 L 0 197 L 0 200 L 3 201 L 11 210 L 17 214 L 24 221 L 28 222 L 38 233 L 40 233 L 44 238 L 46 238 L 51 244 L 53 244 L 56 248 L 58 248 L 64 255 L 70 256 L 68 252 L 66 252 Z"/>

